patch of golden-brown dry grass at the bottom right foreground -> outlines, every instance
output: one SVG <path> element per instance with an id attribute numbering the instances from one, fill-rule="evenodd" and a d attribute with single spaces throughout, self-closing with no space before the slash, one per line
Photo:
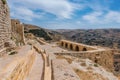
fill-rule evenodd
<path id="1" fill-rule="evenodd" d="M 81 80 L 108 80 L 107 78 L 104 78 L 102 75 L 93 73 L 92 71 L 84 72 L 75 69 L 75 72 L 77 73 Z"/>

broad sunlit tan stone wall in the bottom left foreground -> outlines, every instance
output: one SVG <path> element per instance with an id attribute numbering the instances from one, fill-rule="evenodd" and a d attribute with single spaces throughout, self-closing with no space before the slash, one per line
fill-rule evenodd
<path id="1" fill-rule="evenodd" d="M 0 58 L 0 80 L 25 80 L 34 63 L 34 50 Z"/>

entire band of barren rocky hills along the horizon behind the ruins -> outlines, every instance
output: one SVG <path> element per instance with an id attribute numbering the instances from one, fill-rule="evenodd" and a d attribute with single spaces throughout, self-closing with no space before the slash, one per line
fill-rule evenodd
<path id="1" fill-rule="evenodd" d="M 45 40 L 68 39 L 87 45 L 120 48 L 120 29 L 49 30 L 30 24 L 24 24 L 24 27 L 25 33 L 32 33 Z"/>

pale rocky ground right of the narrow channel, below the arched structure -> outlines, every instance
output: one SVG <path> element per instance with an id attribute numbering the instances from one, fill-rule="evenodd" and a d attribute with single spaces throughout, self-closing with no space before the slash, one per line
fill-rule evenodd
<path id="1" fill-rule="evenodd" d="M 55 74 L 55 80 L 77 80 L 78 77 L 78 80 L 119 80 L 113 73 L 89 59 L 55 56 L 53 54 L 55 52 L 67 51 L 58 47 L 55 43 L 37 45 L 45 50 L 50 59 L 53 60 L 54 74 L 57 73 Z"/>

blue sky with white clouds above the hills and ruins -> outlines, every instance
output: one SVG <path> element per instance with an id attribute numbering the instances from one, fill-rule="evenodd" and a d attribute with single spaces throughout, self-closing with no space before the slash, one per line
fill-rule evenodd
<path id="1" fill-rule="evenodd" d="M 7 1 L 11 18 L 43 28 L 120 28 L 120 0 Z"/>

